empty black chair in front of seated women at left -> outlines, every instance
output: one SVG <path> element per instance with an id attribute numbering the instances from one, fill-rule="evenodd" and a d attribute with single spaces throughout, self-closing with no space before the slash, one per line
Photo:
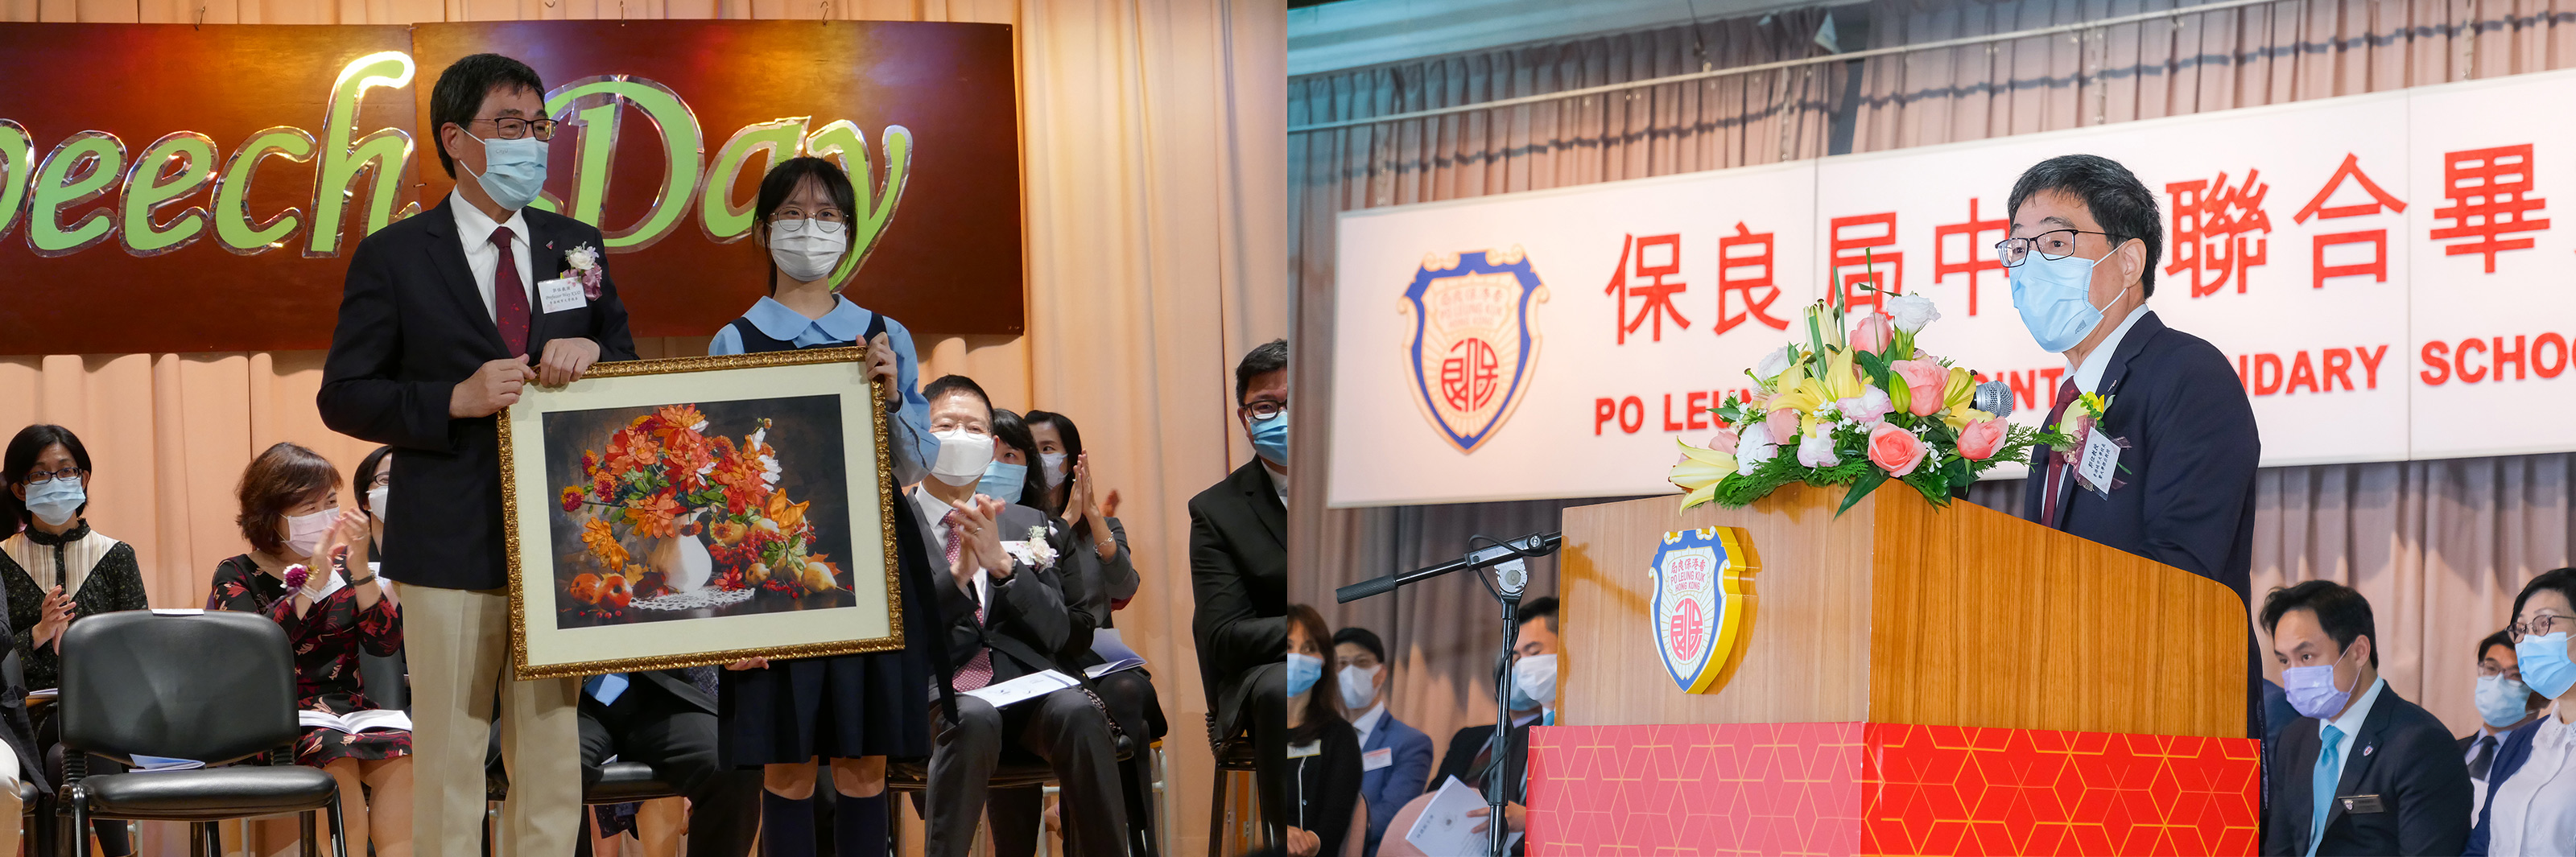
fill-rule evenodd
<path id="1" fill-rule="evenodd" d="M 219 857 L 219 821 L 301 813 L 314 857 L 314 813 L 330 813 L 332 857 L 348 857 L 340 785 L 294 764 L 296 669 L 286 631 L 252 613 L 106 613 L 62 636 L 62 803 L 72 831 L 90 818 L 196 824 L 198 854 Z M 198 759 L 204 769 L 88 777 L 85 754 Z M 229 762 L 265 757 L 268 764 Z M 72 836 L 90 857 L 90 836 Z"/>

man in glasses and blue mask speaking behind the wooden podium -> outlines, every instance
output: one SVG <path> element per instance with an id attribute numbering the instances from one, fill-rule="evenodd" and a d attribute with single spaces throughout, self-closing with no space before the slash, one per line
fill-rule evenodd
<path id="1" fill-rule="evenodd" d="M 2164 250 L 2156 196 L 2107 157 L 2061 154 L 2022 172 L 2009 211 L 2012 237 L 1996 252 L 2012 306 L 2030 337 L 2071 368 L 2043 427 L 2092 427 L 2071 453 L 2032 450 L 2022 517 L 2215 579 L 2246 600 L 2262 438 L 2228 358 L 2146 309 Z M 2099 399 L 2076 401 L 2081 394 Z M 2084 468 L 2087 456 L 2115 466 Z M 2079 471 L 2110 479 L 2094 484 Z"/>

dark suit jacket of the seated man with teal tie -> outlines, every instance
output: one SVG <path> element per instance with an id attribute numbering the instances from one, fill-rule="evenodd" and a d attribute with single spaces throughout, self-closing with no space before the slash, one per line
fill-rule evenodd
<path id="1" fill-rule="evenodd" d="M 2264 854 L 2308 852 L 2308 826 L 2316 813 L 2311 780 L 2324 746 L 2316 728 L 2316 718 L 2298 718 L 2280 731 L 2280 744 L 2272 749 L 2267 764 L 2272 824 Z M 2460 762 L 2450 726 L 2401 700 L 2396 687 L 2380 687 L 2370 718 L 2362 718 L 2360 733 L 2344 741 L 2352 754 L 2344 757 L 2334 795 L 2378 795 L 2385 811 L 2349 813 L 2344 800 L 2336 800 L 2326 811 L 2326 834 L 2316 854 L 2460 854 L 2468 847 L 2468 762 Z"/>

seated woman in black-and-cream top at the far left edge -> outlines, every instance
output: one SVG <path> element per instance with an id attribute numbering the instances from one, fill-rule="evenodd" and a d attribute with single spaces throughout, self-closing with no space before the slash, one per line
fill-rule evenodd
<path id="1" fill-rule="evenodd" d="M 62 682 L 62 631 L 85 615 L 144 610 L 144 574 L 134 546 L 90 530 L 90 450 L 72 430 L 28 425 L 0 453 L 8 494 L 0 494 L 0 520 L 15 535 L 0 540 L 0 584 L 8 587 L 10 646 L 26 669 L 26 690 Z M 23 530 L 18 530 L 23 528 Z M 33 723 L 44 746 L 46 782 L 62 782 L 62 731 L 52 708 Z M 93 775 L 121 772 L 106 757 L 90 757 Z M 36 824 L 36 852 L 54 854 L 54 826 Z M 98 818 L 98 849 L 106 857 L 134 854 L 124 821 Z"/>

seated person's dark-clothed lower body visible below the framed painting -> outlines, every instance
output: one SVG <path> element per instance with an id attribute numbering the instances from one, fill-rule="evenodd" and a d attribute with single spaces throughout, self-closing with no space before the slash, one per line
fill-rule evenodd
<path id="1" fill-rule="evenodd" d="M 587 677 L 580 715 L 585 790 L 600 782 L 600 764 L 611 757 L 649 764 L 657 780 L 688 798 L 690 857 L 752 852 L 760 772 L 716 767 L 716 667 Z M 639 839 L 657 834 L 639 826 Z"/>

